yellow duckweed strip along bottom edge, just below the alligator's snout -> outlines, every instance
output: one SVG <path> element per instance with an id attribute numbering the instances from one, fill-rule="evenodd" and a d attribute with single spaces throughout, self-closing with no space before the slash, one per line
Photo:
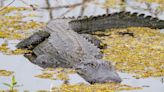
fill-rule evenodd
<path id="1" fill-rule="evenodd" d="M 121 90 L 139 90 L 140 87 L 131 87 L 125 84 L 105 83 L 105 84 L 63 84 L 60 87 L 53 87 L 52 92 L 116 92 Z"/>

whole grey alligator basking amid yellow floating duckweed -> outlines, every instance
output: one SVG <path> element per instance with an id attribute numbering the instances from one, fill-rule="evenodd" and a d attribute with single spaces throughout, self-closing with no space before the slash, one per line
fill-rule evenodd
<path id="1" fill-rule="evenodd" d="M 102 59 L 96 46 L 99 41 L 86 33 L 132 26 L 162 29 L 164 21 L 126 12 L 90 18 L 58 18 L 51 20 L 43 31 L 18 43 L 17 48 L 32 50 L 24 56 L 42 68 L 73 68 L 91 84 L 121 82 L 111 62 Z"/>

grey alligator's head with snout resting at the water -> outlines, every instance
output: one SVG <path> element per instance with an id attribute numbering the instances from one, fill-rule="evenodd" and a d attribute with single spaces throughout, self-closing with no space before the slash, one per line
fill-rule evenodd
<path id="1" fill-rule="evenodd" d="M 100 59 L 94 61 L 88 60 L 87 62 L 77 64 L 75 68 L 78 74 L 91 84 L 106 82 L 120 83 L 122 81 L 113 65 L 108 61 Z"/>

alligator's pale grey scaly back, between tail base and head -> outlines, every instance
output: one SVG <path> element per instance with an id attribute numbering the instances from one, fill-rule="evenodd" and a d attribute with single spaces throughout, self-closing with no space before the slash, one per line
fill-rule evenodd
<path id="1" fill-rule="evenodd" d="M 69 28 L 69 19 L 55 19 L 50 21 L 45 30 L 52 32 L 50 38 L 51 43 L 54 43 L 59 50 L 65 50 L 72 56 L 87 55 L 99 58 L 100 50 L 87 39 L 83 38 Z M 79 56 L 76 56 L 79 57 Z"/>

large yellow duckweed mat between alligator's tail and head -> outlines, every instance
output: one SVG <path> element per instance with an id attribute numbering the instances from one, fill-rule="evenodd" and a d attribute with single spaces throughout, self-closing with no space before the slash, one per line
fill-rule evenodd
<path id="1" fill-rule="evenodd" d="M 164 34 L 159 30 L 132 27 L 95 34 L 109 35 L 99 37 L 108 45 L 102 52 L 117 70 L 135 73 L 136 78 L 164 76 Z"/>

